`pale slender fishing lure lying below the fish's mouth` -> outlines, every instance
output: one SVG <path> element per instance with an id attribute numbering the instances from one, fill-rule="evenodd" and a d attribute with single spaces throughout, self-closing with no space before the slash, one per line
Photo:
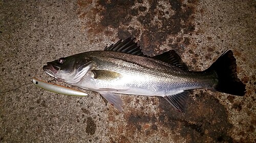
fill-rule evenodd
<path id="1" fill-rule="evenodd" d="M 48 90 L 48 91 L 54 92 L 54 93 L 70 95 L 70 96 L 88 96 L 87 93 L 84 93 L 84 92 L 81 92 L 78 90 L 74 90 L 74 89 L 70 89 L 67 87 L 63 87 L 58 84 L 53 84 L 53 83 L 49 83 L 46 81 L 42 81 L 35 77 L 33 77 L 33 83 L 39 88 L 42 88 L 42 89 L 45 89 L 45 90 Z"/>

